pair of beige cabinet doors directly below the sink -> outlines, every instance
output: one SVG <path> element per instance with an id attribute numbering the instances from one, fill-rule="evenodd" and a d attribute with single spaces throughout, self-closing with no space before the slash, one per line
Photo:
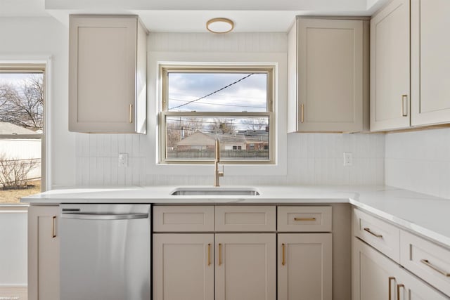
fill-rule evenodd
<path id="1" fill-rule="evenodd" d="M 275 272 L 275 233 L 153 235 L 154 300 L 273 300 Z"/>

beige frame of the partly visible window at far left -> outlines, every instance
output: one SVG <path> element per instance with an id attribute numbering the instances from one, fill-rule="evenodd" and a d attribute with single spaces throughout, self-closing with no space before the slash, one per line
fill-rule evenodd
<path id="1" fill-rule="evenodd" d="M 46 164 L 46 124 L 47 110 L 46 106 L 47 97 L 49 93 L 47 92 L 47 77 L 48 63 L 1 63 L 0 62 L 0 73 L 18 73 L 18 74 L 42 74 L 43 76 L 43 88 L 44 88 L 44 107 L 42 107 L 42 133 L 40 134 L 0 134 L 1 139 L 31 139 L 39 138 L 41 140 L 41 192 L 47 190 L 47 164 Z"/>

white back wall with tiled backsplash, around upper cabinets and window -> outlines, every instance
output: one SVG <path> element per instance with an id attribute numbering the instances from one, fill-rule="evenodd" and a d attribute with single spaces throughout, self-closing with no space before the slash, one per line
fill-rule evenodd
<path id="1" fill-rule="evenodd" d="M 68 28 L 53 18 L 0 18 L 0 60 L 49 56 L 51 70 L 51 174 L 53 188 L 70 185 L 207 184 L 212 176 L 155 174 L 150 135 L 68 132 Z M 148 51 L 286 53 L 281 33 L 229 35 L 153 33 Z M 281 86 L 285 89 L 285 86 Z M 152 102 L 153 101 L 153 102 Z M 149 95 L 149 102 L 155 103 Z M 283 101 L 283 99 L 281 99 Z M 154 118 L 148 115 L 148 118 Z M 283 120 L 281 120 L 283 122 Z M 384 181 L 384 137 L 378 134 L 290 134 L 285 174 L 227 176 L 224 184 L 380 184 Z M 323 150 L 323 149 L 326 150 Z M 342 167 L 342 151 L 354 152 L 354 166 Z M 370 150 L 370 151 L 369 151 Z M 129 153 L 129 167 L 117 155 Z M 212 172 L 211 172 L 212 174 Z"/>

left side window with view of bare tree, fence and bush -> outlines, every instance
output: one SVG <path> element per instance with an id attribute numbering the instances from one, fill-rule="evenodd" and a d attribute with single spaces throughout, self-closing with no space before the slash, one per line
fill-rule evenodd
<path id="1" fill-rule="evenodd" d="M 44 65 L 0 65 L 0 203 L 41 192 Z"/>

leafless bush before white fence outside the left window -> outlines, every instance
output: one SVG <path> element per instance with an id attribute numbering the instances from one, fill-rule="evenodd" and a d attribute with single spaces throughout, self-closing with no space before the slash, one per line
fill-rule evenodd
<path id="1" fill-rule="evenodd" d="M 0 184 L 4 190 L 27 187 L 27 176 L 39 165 L 39 159 L 6 159 L 0 155 Z"/>

